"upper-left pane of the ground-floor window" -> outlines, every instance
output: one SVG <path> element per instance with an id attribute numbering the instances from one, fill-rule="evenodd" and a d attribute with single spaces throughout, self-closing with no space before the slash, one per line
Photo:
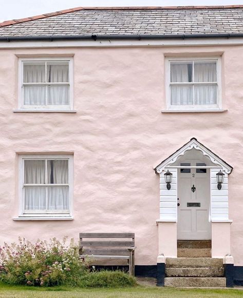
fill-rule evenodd
<path id="1" fill-rule="evenodd" d="M 25 184 L 45 184 L 45 161 L 25 161 Z"/>

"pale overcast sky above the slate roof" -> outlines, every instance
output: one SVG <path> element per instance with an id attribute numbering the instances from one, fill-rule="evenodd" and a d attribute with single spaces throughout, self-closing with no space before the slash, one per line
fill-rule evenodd
<path id="1" fill-rule="evenodd" d="M 73 7 L 234 5 L 243 0 L 0 0 L 0 22 Z"/>

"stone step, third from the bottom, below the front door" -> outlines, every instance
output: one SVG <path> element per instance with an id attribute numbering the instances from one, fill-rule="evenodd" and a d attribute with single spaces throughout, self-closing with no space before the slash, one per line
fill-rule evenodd
<path id="1" fill-rule="evenodd" d="M 166 268 L 221 268 L 222 259 L 212 257 L 166 257 Z"/>

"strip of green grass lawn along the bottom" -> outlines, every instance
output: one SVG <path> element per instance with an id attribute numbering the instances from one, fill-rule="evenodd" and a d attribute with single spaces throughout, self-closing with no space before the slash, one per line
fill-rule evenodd
<path id="1" fill-rule="evenodd" d="M 0 283 L 0 298 L 163 298 L 163 297 L 239 297 L 243 296 L 240 289 L 175 289 L 158 287 L 135 287 L 119 289 L 81 289 L 81 288 L 33 288 L 28 286 L 9 286 Z"/>

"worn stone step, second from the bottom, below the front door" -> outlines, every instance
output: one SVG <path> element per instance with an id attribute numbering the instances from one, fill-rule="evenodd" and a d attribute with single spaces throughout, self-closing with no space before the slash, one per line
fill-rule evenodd
<path id="1" fill-rule="evenodd" d="M 168 277 L 223 277 L 223 268 L 166 268 Z"/>

